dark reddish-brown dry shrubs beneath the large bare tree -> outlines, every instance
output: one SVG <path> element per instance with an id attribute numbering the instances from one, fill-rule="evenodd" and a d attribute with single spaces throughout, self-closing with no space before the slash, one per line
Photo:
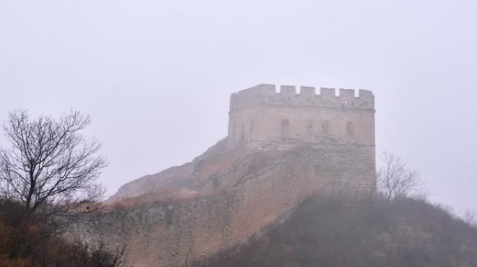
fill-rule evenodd
<path id="1" fill-rule="evenodd" d="M 66 241 L 63 223 L 29 214 L 20 202 L 0 200 L 0 267 L 114 267 L 125 264 L 124 248 Z"/>

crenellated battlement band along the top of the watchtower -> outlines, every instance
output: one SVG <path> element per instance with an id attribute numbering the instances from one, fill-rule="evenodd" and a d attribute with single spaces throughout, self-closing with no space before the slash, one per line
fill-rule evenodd
<path id="1" fill-rule="evenodd" d="M 259 105 L 315 106 L 322 108 L 356 108 L 374 111 L 374 95 L 368 90 L 340 89 L 336 95 L 335 88 L 301 86 L 280 86 L 280 91 L 273 84 L 260 84 L 232 94 L 230 111 Z"/>

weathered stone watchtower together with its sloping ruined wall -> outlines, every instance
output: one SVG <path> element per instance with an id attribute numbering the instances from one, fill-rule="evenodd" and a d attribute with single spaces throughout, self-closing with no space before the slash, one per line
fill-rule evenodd
<path id="1" fill-rule="evenodd" d="M 128 243 L 134 266 L 188 266 L 246 241 L 311 194 L 369 193 L 372 93 L 282 90 L 262 85 L 232 95 L 226 140 L 192 163 L 123 186 L 110 202 L 126 205 L 77 225 L 77 234 Z M 176 197 L 144 197 L 165 189 Z"/>

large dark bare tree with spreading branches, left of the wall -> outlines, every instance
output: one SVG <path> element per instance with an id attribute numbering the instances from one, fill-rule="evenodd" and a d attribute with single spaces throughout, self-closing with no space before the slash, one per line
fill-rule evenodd
<path id="1" fill-rule="evenodd" d="M 96 180 L 107 161 L 97 155 L 98 140 L 80 133 L 90 122 L 79 111 L 56 120 L 45 115 L 32 120 L 27 111 L 10 113 L 3 124 L 9 146 L 0 149 L 3 196 L 21 201 L 27 213 L 40 207 L 55 214 L 77 211 L 99 200 L 103 189 Z"/>

